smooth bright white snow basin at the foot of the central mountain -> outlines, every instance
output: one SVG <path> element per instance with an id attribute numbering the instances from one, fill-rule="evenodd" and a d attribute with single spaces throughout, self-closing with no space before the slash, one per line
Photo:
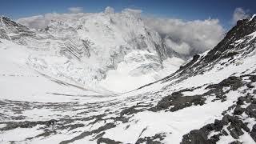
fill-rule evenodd
<path id="1" fill-rule="evenodd" d="M 138 67 L 139 62 L 126 63 L 121 62 L 118 64 L 116 70 L 109 70 L 106 78 L 100 82 L 100 86 L 106 90 L 114 91 L 115 93 L 126 93 L 131 90 L 138 89 L 148 83 L 155 82 L 178 70 L 185 61 L 181 58 L 167 58 L 163 63 L 163 69 L 153 71 L 149 74 L 141 74 L 139 76 L 132 76 L 129 74 L 130 70 Z"/>

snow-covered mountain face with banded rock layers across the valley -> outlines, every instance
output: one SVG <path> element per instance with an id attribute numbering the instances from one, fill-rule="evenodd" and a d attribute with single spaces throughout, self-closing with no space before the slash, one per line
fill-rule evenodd
<path id="1" fill-rule="evenodd" d="M 178 70 L 185 62 L 174 58 L 178 55 L 167 50 L 136 10 L 114 13 L 107 7 L 104 13 L 66 14 L 40 30 L 5 17 L 1 23 L 1 38 L 34 50 L 26 62 L 32 69 L 89 89 L 134 90 Z M 116 83 L 124 81 L 127 85 Z"/>

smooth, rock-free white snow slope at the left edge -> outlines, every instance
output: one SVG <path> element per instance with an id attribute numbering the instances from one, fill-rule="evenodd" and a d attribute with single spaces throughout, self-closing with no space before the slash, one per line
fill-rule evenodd
<path id="1" fill-rule="evenodd" d="M 26 58 L 34 51 L 28 50 L 26 46 L 1 40 L 0 51 L 1 98 L 29 102 L 70 102 L 76 98 L 62 98 L 54 93 L 98 94 L 82 86 L 78 87 L 79 85 L 75 85 L 74 82 L 61 82 L 35 71 L 26 63 Z M 75 86 L 71 86 L 72 84 Z"/>

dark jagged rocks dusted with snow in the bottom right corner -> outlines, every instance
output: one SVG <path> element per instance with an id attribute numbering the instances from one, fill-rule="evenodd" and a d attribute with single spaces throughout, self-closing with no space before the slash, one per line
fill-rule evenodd
<path id="1" fill-rule="evenodd" d="M 242 77 L 254 78 L 254 75 L 244 75 Z M 233 90 L 237 90 L 236 87 L 239 83 L 240 86 L 242 82 L 234 82 L 237 78 L 227 78 L 220 82 L 216 86 L 230 86 L 233 83 Z M 242 78 L 240 78 L 242 79 Z M 252 82 L 252 81 L 251 81 Z M 250 85 L 251 82 L 248 82 Z M 232 87 L 232 86 L 231 86 Z M 250 87 L 247 88 L 250 90 Z M 230 106 L 229 110 L 224 111 L 223 118 L 221 120 L 216 119 L 214 123 L 203 126 L 199 130 L 192 130 L 189 134 L 186 134 L 182 138 L 182 144 L 196 144 L 196 143 L 206 143 L 214 144 L 220 140 L 221 137 L 231 136 L 234 139 L 239 139 L 243 134 L 250 135 L 251 138 L 255 139 L 255 125 L 250 128 L 248 127 L 248 122 L 244 122 L 244 117 L 256 118 L 256 98 L 254 98 L 254 93 L 248 93 L 246 96 L 238 98 L 238 101 L 233 106 Z M 245 105 L 246 108 L 242 108 Z M 233 111 L 233 114 L 230 115 L 230 111 Z M 246 116 L 245 116 L 246 114 Z M 211 133 L 214 133 L 212 135 Z M 211 135 L 210 135 L 211 134 Z M 239 143 L 239 141 L 234 141 L 232 143 Z"/>

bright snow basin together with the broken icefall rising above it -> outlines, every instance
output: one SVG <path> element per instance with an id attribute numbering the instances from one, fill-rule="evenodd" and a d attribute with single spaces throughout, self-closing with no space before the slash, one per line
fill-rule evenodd
<path id="1" fill-rule="evenodd" d="M 152 62 L 146 56 L 156 59 L 147 51 L 139 50 L 127 54 L 116 70 L 109 70 L 106 73 L 106 78 L 100 82 L 100 85 L 114 92 L 128 92 L 174 73 L 185 63 L 181 58 L 167 58 L 162 62 L 162 68 L 158 62 Z M 134 60 L 134 58 L 138 59 Z"/>

